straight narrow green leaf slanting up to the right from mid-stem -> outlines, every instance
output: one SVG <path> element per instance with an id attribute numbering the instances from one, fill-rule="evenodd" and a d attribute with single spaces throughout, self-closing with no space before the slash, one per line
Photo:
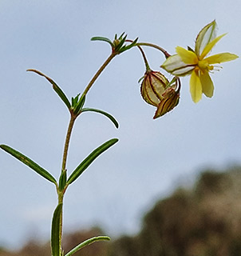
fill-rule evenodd
<path id="1" fill-rule="evenodd" d="M 83 160 L 79 166 L 75 170 L 73 170 L 73 173 L 69 176 L 67 180 L 67 185 L 74 182 L 79 176 L 85 171 L 85 169 L 105 150 L 108 150 L 110 146 L 113 146 L 115 143 L 118 142 L 117 138 L 112 138 L 108 142 L 103 143 L 101 146 L 97 147 L 96 150 L 93 150 L 92 153 L 89 154 L 85 160 Z"/>

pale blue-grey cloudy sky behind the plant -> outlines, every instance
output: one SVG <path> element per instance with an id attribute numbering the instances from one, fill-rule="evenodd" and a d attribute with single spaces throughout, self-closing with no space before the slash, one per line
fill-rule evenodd
<path id="1" fill-rule="evenodd" d="M 176 46 L 194 46 L 214 19 L 218 34 L 228 34 L 213 53 L 240 56 L 240 10 L 238 0 L 0 1 L 0 143 L 58 177 L 69 113 L 45 78 L 27 69 L 41 70 L 71 98 L 109 56 L 109 45 L 91 42 L 93 36 L 113 39 L 126 32 L 174 54 Z M 164 56 L 144 50 L 152 69 L 160 70 Z M 120 128 L 99 114 L 82 114 L 73 130 L 69 172 L 109 138 L 120 141 L 67 190 L 65 231 L 99 225 L 113 237 L 133 234 L 144 212 L 175 186 L 191 183 L 206 167 L 241 163 L 240 59 L 222 66 L 211 74 L 213 98 L 193 103 L 189 78 L 182 78 L 179 106 L 153 120 L 155 108 L 140 97 L 140 52 L 132 49 L 113 60 L 85 106 L 113 114 Z M 4 151 L 0 164 L 0 246 L 48 239 L 55 187 Z"/>

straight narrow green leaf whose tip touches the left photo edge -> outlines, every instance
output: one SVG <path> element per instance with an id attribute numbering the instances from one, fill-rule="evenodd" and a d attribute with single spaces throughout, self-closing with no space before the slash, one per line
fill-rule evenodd
<path id="1" fill-rule="evenodd" d="M 14 156 L 14 158 L 17 158 L 19 161 L 26 164 L 26 166 L 29 166 L 31 169 L 35 170 L 42 177 L 49 180 L 49 182 L 53 182 L 54 184 L 57 184 L 55 178 L 53 178 L 53 176 L 51 174 L 49 174 L 49 172 L 47 170 L 43 169 L 41 166 L 38 166 L 38 164 L 36 162 L 31 160 L 30 158 L 27 158 L 24 154 L 18 152 L 17 150 L 14 150 L 10 146 L 0 145 L 0 147 L 2 148 L 2 150 L 5 150 L 7 153 Z"/>

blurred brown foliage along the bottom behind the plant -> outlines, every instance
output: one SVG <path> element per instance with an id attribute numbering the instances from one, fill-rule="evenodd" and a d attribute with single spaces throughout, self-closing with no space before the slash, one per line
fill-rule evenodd
<path id="1" fill-rule="evenodd" d="M 131 203 L 131 202 L 130 202 Z M 64 249 L 105 234 L 98 227 L 66 234 Z M 49 242 L 29 241 L 0 256 L 48 256 Z M 144 215 L 139 234 L 97 242 L 75 255 L 86 256 L 240 256 L 241 166 L 205 170 L 192 187 L 178 187 Z"/>

